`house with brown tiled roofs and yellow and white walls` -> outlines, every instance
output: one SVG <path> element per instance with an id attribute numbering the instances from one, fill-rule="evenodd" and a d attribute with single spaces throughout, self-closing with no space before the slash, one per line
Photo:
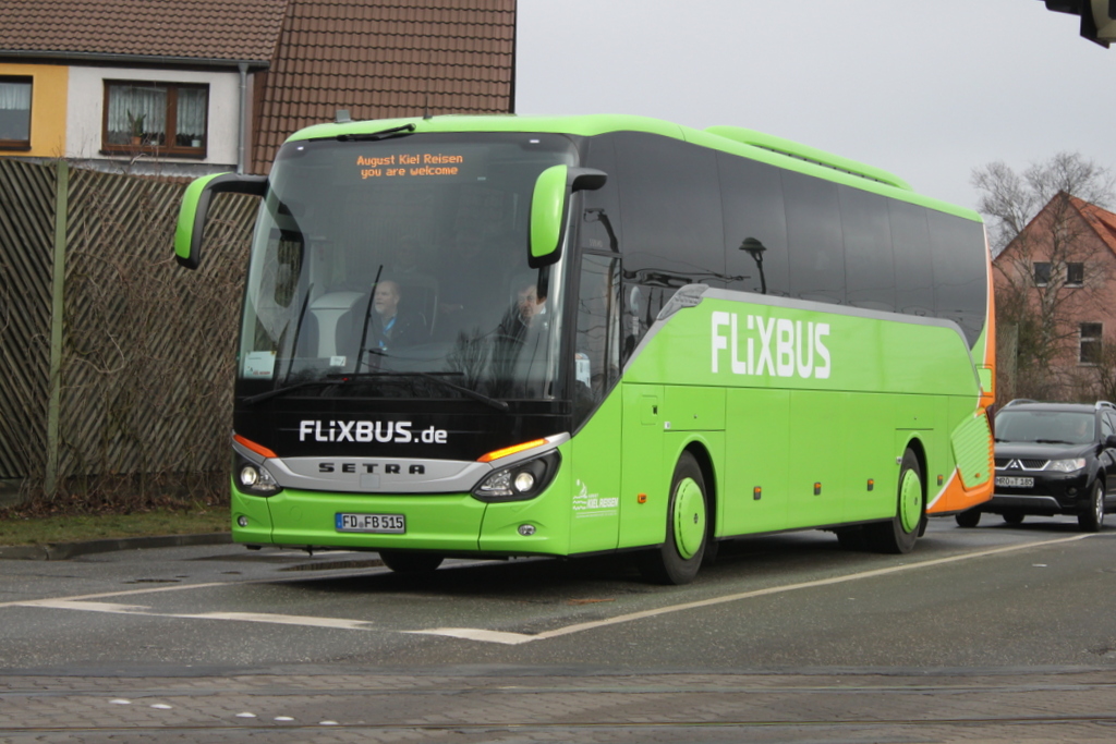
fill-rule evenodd
<path id="1" fill-rule="evenodd" d="M 506 113 L 516 0 L 0 0 L 0 157 L 267 173 L 299 127 Z"/>

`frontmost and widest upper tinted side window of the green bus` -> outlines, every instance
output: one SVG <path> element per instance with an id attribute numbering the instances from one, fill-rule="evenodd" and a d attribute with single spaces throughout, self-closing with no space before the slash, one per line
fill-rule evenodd
<path id="1" fill-rule="evenodd" d="M 624 276 L 641 284 L 724 286 L 715 154 L 677 139 L 615 139 L 624 224 Z"/>

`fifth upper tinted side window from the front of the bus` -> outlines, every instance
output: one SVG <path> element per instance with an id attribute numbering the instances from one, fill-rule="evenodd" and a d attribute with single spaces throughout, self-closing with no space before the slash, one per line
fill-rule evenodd
<path id="1" fill-rule="evenodd" d="M 926 210 L 897 201 L 888 202 L 887 207 L 895 254 L 896 309 L 912 316 L 932 316 L 934 269 Z"/>

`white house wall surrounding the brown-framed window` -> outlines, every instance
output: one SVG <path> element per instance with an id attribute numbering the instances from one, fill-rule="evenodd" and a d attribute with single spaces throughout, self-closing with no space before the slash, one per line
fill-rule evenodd
<path id="1" fill-rule="evenodd" d="M 70 67 L 69 106 L 66 117 L 66 157 L 122 161 L 126 156 L 100 153 L 105 110 L 105 80 L 204 83 L 209 85 L 209 132 L 205 160 L 160 156 L 166 163 L 237 165 L 240 129 L 240 74 L 194 70 L 127 69 L 121 67 Z M 143 158 L 152 160 L 152 158 Z"/>

